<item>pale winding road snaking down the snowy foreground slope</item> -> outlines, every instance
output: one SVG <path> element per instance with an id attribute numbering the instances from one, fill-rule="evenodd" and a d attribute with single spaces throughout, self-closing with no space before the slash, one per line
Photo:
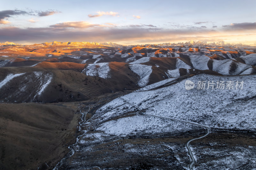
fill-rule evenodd
<path id="1" fill-rule="evenodd" d="M 190 142 L 192 142 L 192 141 L 194 141 L 194 140 L 196 140 L 196 139 L 201 139 L 201 138 L 203 138 L 203 137 L 206 137 L 206 136 L 210 133 L 210 128 L 209 128 L 208 126 L 205 126 L 205 125 L 202 125 L 202 124 L 198 124 L 198 123 L 194 123 L 194 122 L 184 121 L 184 120 L 180 120 L 180 119 L 175 119 L 175 118 L 171 118 L 171 117 L 163 117 L 163 116 L 156 116 L 156 115 L 140 115 L 139 112 L 140 112 L 142 109 L 141 109 L 139 106 L 128 102 L 128 101 L 125 100 L 124 98 L 121 98 L 121 97 L 118 97 L 118 98 L 121 99 L 121 100 L 124 100 L 124 102 L 126 102 L 127 104 L 132 105 L 132 106 L 138 108 L 139 110 L 136 112 L 136 115 L 138 115 L 138 116 L 152 116 L 152 117 L 159 117 L 159 118 L 164 118 L 164 119 L 171 119 L 171 120 L 174 120 L 174 121 L 185 122 L 185 123 L 188 123 L 188 124 L 192 124 L 192 125 L 195 125 L 195 126 L 199 126 L 199 127 L 205 128 L 205 129 L 207 130 L 207 133 L 206 133 L 204 136 L 191 139 L 191 140 L 189 140 L 188 143 L 187 143 L 187 148 L 188 148 L 188 151 L 189 151 L 189 155 L 190 155 L 190 157 L 191 157 L 191 159 L 192 159 L 192 162 L 191 162 L 190 165 L 189 165 L 189 169 L 190 169 L 190 170 L 193 170 L 193 166 L 194 166 L 196 160 L 195 160 L 195 158 L 194 158 L 194 156 L 193 156 L 193 154 L 192 154 L 192 151 L 191 151 L 191 148 L 189 147 L 189 144 L 190 144 Z"/>

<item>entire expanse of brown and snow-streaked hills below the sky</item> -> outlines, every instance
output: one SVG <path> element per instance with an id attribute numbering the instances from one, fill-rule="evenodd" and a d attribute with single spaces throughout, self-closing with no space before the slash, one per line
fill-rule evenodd
<path id="1" fill-rule="evenodd" d="M 224 41 L 5 42 L 0 167 L 253 169 L 255 75 Z"/>

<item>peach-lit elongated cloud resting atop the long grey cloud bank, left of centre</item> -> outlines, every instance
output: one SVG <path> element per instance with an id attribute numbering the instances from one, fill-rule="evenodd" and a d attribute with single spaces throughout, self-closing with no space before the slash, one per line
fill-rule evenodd
<path id="1" fill-rule="evenodd" d="M 91 24 L 86 21 L 68 21 L 68 22 L 54 24 L 49 27 L 54 27 L 54 28 L 92 28 L 95 26 L 104 26 L 104 25 Z"/>

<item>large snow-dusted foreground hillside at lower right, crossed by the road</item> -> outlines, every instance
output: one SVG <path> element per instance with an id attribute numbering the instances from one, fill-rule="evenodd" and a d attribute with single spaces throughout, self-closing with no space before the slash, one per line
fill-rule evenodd
<path id="1" fill-rule="evenodd" d="M 187 81 L 200 80 L 246 83 L 242 89 L 186 90 Z M 243 161 L 255 158 L 254 144 L 247 139 L 244 145 L 239 134 L 256 129 L 256 91 L 251 88 L 255 81 L 255 74 L 200 74 L 168 78 L 120 96 L 98 108 L 91 119 L 81 124 L 83 134 L 72 146 L 76 152 L 63 160 L 59 168 L 105 168 L 114 159 L 111 168 L 126 169 L 130 164 L 120 161 L 125 158 L 129 162 L 143 159 L 145 165 L 155 169 L 189 169 L 187 142 L 195 133 L 204 136 L 209 128 L 205 139 L 197 139 L 189 146 L 195 169 L 251 169 L 256 163 Z M 102 154 L 96 161 L 93 158 L 98 152 Z"/>

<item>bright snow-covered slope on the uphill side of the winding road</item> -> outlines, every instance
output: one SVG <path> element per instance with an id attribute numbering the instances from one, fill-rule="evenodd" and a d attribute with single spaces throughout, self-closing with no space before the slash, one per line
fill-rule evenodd
<path id="1" fill-rule="evenodd" d="M 185 81 L 244 81 L 243 89 L 194 89 L 186 90 Z M 132 92 L 122 96 L 128 102 L 145 110 L 146 115 L 176 118 L 204 124 L 212 128 L 255 129 L 256 115 L 255 94 L 253 87 L 256 75 L 248 76 L 213 76 L 197 75 L 180 82 L 143 92 Z M 215 85 L 216 87 L 216 85 Z M 206 85 L 207 88 L 207 85 Z M 188 100 L 189 99 L 189 100 Z M 207 107 L 205 107 L 207 106 Z M 106 104 L 105 108 L 115 108 Z M 123 109 L 122 109 L 123 107 Z M 134 106 L 120 106 L 112 114 L 121 114 L 122 110 L 137 109 Z M 103 110 L 100 110 L 102 112 Z"/>

